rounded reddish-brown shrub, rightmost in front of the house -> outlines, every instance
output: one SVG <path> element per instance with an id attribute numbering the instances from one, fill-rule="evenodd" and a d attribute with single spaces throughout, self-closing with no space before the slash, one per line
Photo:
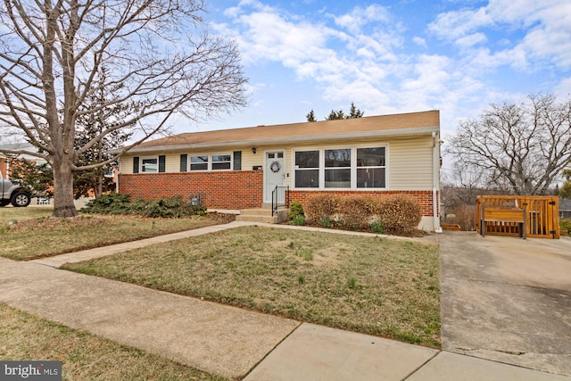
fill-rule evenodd
<path id="1" fill-rule="evenodd" d="M 410 195 L 387 195 L 370 204 L 387 234 L 410 236 L 422 219 L 422 206 Z"/>

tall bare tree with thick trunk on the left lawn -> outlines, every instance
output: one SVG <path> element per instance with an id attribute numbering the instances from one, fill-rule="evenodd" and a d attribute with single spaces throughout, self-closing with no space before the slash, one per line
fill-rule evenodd
<path id="1" fill-rule="evenodd" d="M 168 127 L 244 106 L 244 75 L 233 42 L 209 37 L 201 0 L 2 0 L 0 125 L 18 128 L 54 170 L 54 216 L 72 217 L 73 176 L 112 162 Z M 95 80 L 105 67 L 105 80 Z M 118 88 L 88 104 L 102 87 Z M 140 104 L 77 146 L 76 120 L 113 104 Z M 104 162 L 77 158 L 113 131 L 137 125 L 137 141 Z"/>

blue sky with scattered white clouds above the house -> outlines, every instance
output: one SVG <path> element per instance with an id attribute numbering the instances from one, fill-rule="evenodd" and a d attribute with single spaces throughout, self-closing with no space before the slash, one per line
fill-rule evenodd
<path id="1" fill-rule="evenodd" d="M 236 39 L 249 105 L 176 132 L 441 111 L 446 139 L 492 103 L 571 93 L 568 0 L 206 0 L 211 34 Z"/>

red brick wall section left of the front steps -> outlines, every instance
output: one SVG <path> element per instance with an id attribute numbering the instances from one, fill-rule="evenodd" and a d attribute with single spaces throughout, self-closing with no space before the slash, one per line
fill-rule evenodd
<path id="1" fill-rule="evenodd" d="M 211 172 L 120 174 L 119 192 L 133 198 L 153 200 L 162 197 L 202 193 L 203 205 L 210 209 L 259 208 L 263 200 L 261 170 Z"/>

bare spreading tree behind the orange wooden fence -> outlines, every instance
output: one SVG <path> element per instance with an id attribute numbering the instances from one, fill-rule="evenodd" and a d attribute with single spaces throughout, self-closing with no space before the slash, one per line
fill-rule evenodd
<path id="1" fill-rule="evenodd" d="M 448 147 L 462 165 L 517 195 L 544 195 L 571 160 L 571 100 L 530 95 L 522 104 L 492 104 L 460 123 Z"/>

